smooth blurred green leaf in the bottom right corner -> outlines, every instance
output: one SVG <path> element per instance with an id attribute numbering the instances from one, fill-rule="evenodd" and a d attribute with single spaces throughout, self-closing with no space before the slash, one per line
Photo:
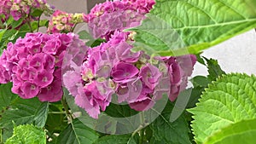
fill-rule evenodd
<path id="1" fill-rule="evenodd" d="M 205 144 L 252 144 L 255 143 L 256 119 L 244 120 L 218 131 Z"/>

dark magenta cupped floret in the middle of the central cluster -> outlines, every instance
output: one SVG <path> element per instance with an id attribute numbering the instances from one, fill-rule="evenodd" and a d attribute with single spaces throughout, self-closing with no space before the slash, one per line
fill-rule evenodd
<path id="1" fill-rule="evenodd" d="M 135 77 L 138 72 L 136 66 L 125 62 L 119 62 L 113 66 L 111 76 L 116 83 L 127 83 L 131 81 L 131 78 Z"/>

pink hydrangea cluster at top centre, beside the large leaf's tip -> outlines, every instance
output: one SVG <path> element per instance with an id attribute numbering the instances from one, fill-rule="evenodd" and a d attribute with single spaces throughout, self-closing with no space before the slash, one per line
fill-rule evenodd
<path id="1" fill-rule="evenodd" d="M 108 40 L 114 31 L 139 26 L 154 3 L 154 0 L 117 0 L 99 3 L 86 16 L 88 26 L 93 37 Z"/>

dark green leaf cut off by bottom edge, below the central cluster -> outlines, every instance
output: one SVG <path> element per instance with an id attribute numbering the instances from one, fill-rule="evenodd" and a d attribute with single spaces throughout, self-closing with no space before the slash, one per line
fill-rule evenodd
<path id="1" fill-rule="evenodd" d="M 131 135 L 108 135 L 98 139 L 94 144 L 136 144 Z"/>

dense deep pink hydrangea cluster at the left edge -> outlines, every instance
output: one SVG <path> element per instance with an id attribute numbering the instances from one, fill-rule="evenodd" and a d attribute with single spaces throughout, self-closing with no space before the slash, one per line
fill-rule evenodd
<path id="1" fill-rule="evenodd" d="M 60 101 L 63 56 L 68 46 L 79 42 L 73 33 L 27 33 L 3 50 L 0 83 L 13 82 L 12 92 L 24 99 Z"/>

